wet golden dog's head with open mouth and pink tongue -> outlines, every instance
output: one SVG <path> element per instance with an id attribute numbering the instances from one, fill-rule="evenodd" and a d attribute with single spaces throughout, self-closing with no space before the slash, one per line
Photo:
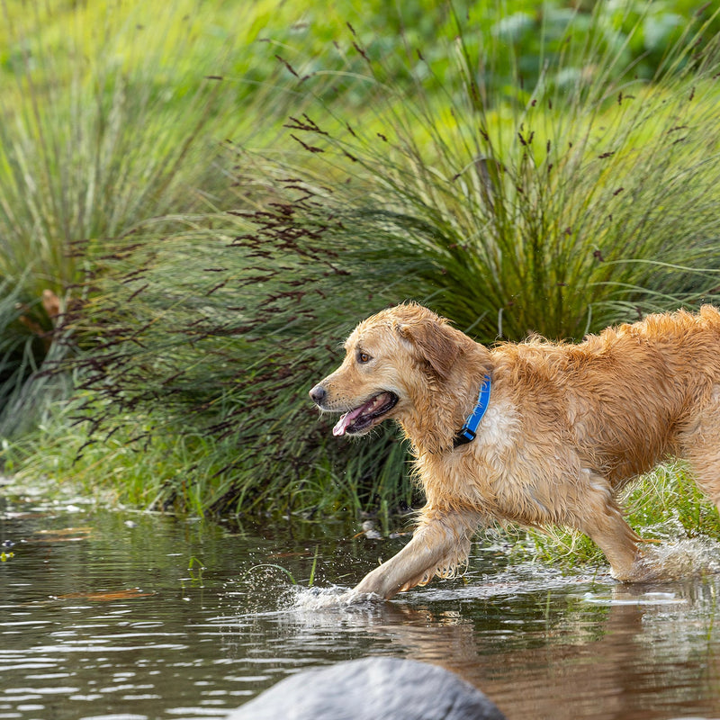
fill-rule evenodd
<path id="1" fill-rule="evenodd" d="M 418 410 L 418 400 L 445 383 L 474 343 L 415 303 L 363 320 L 345 343 L 343 364 L 310 392 L 320 410 L 341 412 L 333 428 L 364 435 L 384 419 Z"/>

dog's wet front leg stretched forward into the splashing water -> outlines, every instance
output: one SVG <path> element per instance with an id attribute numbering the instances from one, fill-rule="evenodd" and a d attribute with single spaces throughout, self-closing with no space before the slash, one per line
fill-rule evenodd
<path id="1" fill-rule="evenodd" d="M 402 590 L 424 585 L 434 575 L 450 577 L 467 562 L 478 518 L 474 513 L 426 509 L 408 545 L 375 568 L 353 590 L 391 599 Z"/>

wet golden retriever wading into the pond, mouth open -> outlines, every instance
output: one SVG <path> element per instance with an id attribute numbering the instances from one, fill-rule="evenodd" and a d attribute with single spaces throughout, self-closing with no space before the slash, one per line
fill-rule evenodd
<path id="1" fill-rule="evenodd" d="M 492 518 L 575 527 L 617 580 L 650 580 L 657 571 L 615 496 L 671 455 L 720 507 L 720 311 L 711 306 L 650 315 L 579 345 L 533 338 L 489 349 L 406 303 L 361 322 L 345 349 L 311 399 L 344 413 L 338 436 L 394 419 L 426 496 L 410 543 L 358 593 L 390 599 L 452 576 Z M 476 437 L 459 444 L 486 376 L 487 410 Z"/>

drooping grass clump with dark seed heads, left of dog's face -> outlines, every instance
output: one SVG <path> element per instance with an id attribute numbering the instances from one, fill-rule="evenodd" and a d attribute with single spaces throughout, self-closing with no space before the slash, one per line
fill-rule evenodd
<path id="1" fill-rule="evenodd" d="M 368 247 L 356 259 L 352 251 L 340 258 L 319 229 L 303 236 L 284 227 L 258 243 L 240 234 L 248 227 L 244 213 L 194 223 L 185 217 L 180 225 L 173 232 L 165 226 L 162 239 L 136 234 L 136 247 L 114 253 L 103 292 L 67 315 L 85 350 L 76 372 L 93 391 L 76 409 L 88 432 L 103 446 L 113 427 L 137 428 L 142 418 L 140 432 L 119 437 L 123 444 L 134 437 L 146 457 L 158 442 L 212 437 L 212 462 L 203 446 L 186 468 L 196 482 L 209 477 L 212 509 L 265 503 L 307 513 L 354 495 L 365 504 L 382 475 L 378 458 L 363 464 L 361 453 L 338 473 L 330 458 L 340 455 L 344 466 L 355 448 L 334 443 L 329 450 L 328 425 L 317 422 L 306 392 L 320 367 L 338 359 L 323 334 L 339 337 L 355 320 L 357 282 L 343 288 L 338 277 L 349 277 L 354 264 L 353 275 L 362 272 L 365 282 L 382 276 L 382 248 L 374 269 Z M 387 446 L 399 444 L 388 439 Z M 163 489 L 178 494 L 172 479 Z"/>

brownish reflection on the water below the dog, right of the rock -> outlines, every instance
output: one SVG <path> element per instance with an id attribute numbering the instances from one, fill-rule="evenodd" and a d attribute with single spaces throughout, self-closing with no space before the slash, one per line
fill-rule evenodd
<path id="1" fill-rule="evenodd" d="M 662 590 L 605 582 L 538 591 L 518 581 L 482 603 L 428 591 L 360 625 L 392 638 L 395 653 L 455 671 L 509 718 L 716 715 L 716 579 Z M 304 613 L 301 626 L 313 622 Z M 324 621 L 333 625 L 327 611 Z"/>

